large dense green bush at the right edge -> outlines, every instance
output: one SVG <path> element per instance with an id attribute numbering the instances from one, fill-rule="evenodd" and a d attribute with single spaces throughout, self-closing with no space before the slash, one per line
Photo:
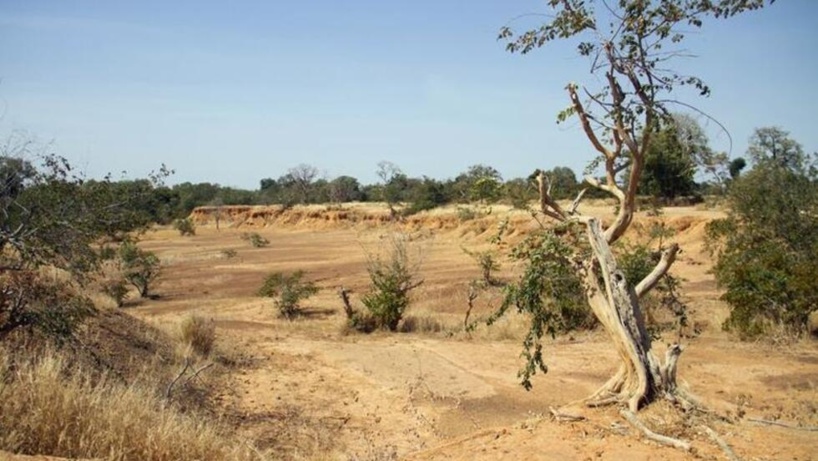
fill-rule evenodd
<path id="1" fill-rule="evenodd" d="M 745 338 L 803 333 L 818 306 L 818 174 L 781 133 L 776 142 L 754 137 L 755 167 L 731 185 L 728 217 L 708 226 L 716 279 L 731 306 L 724 327 Z"/>

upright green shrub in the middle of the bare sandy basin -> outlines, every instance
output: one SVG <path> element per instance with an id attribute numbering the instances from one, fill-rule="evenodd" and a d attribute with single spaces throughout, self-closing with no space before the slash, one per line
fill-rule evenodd
<path id="1" fill-rule="evenodd" d="M 372 286 L 361 302 L 377 328 L 396 331 L 409 307 L 409 294 L 423 283 L 409 255 L 405 237 L 393 236 L 386 257 L 369 255 L 367 272 Z"/>

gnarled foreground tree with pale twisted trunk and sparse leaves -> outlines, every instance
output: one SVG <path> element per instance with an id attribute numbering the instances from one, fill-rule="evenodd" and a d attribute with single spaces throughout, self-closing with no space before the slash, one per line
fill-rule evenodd
<path id="1" fill-rule="evenodd" d="M 501 29 L 500 39 L 507 41 L 511 52 L 525 54 L 556 40 L 574 39 L 579 54 L 589 58 L 591 71 L 598 78 L 589 86 L 567 85 L 570 105 L 558 114 L 557 120 L 577 117 L 584 135 L 599 154 L 595 164 L 604 169 L 601 180 L 589 175 L 586 181 L 618 202 L 615 219 L 605 227 L 599 219 L 579 213 L 574 205 L 564 208 L 557 203 L 546 175 L 537 175 L 540 213 L 569 229 L 579 225 L 581 231 L 545 231 L 553 233 L 553 238 L 542 239 L 544 250 L 530 253 L 523 277 L 507 289 L 507 302 L 529 313 L 532 322 L 524 341 L 528 359 L 521 370 L 524 383 L 530 384 L 529 379 L 537 370 L 547 370 L 540 338 L 554 331 L 553 322 L 557 320 L 554 315 L 538 310 L 538 306 L 543 306 L 537 298 L 546 286 L 543 278 L 551 272 L 542 272 L 539 266 L 552 257 L 560 257 L 567 248 L 571 254 L 563 257 L 570 262 L 569 267 L 575 268 L 586 302 L 608 332 L 621 361 L 617 373 L 589 401 L 622 402 L 636 411 L 663 396 L 684 400 L 675 381 L 681 348 L 672 346 L 664 363 L 655 356 L 639 303 L 667 273 L 678 246 L 663 248 L 653 270 L 634 283 L 619 269 L 612 245 L 626 233 L 634 218 L 637 188 L 654 141 L 653 128 L 671 120 L 669 101 L 673 98 L 669 93 L 682 86 L 693 87 L 703 95 L 710 91 L 701 79 L 668 70 L 686 30 L 700 27 L 710 17 L 733 16 L 760 8 L 764 3 L 549 0 L 553 11 L 545 24 L 522 34 L 515 34 L 510 27 Z M 565 245 L 555 243 L 555 239 Z M 552 290 L 552 293 L 559 305 L 563 293 L 570 296 L 572 292 Z"/>

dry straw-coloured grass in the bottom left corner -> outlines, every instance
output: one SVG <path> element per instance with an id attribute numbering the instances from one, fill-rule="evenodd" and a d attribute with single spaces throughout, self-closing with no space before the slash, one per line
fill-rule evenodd
<path id="1" fill-rule="evenodd" d="M 177 411 L 156 389 L 66 372 L 55 352 L 11 365 L 0 350 L 0 449 L 108 460 L 258 459 L 213 423 Z"/>

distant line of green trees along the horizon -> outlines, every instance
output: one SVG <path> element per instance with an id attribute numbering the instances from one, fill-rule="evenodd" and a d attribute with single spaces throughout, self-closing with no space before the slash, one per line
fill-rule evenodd
<path id="1" fill-rule="evenodd" d="M 639 193 L 658 202 L 721 195 L 747 164 L 743 158 L 730 160 L 727 154 L 713 151 L 704 130 L 688 115 L 676 114 L 653 130 Z M 410 177 L 399 165 L 384 161 L 376 165 L 375 172 L 378 180 L 363 184 L 348 175 L 329 179 L 318 167 L 299 164 L 277 178 L 261 179 L 256 190 L 210 182 L 155 186 L 147 179 L 122 180 L 114 182 L 113 187 L 125 196 L 141 197 L 137 208 L 158 223 L 184 218 L 198 206 L 385 202 L 393 211 L 397 204 L 405 204 L 403 212 L 413 213 L 453 203 L 500 202 L 525 208 L 538 196 L 533 179 L 539 170 L 529 177 L 505 179 L 496 168 L 476 164 L 454 178 L 436 179 Z M 593 174 L 593 169 L 578 175 L 569 167 L 556 166 L 544 173 L 552 184 L 554 198 L 562 200 L 575 197 L 585 187 L 584 175 Z M 595 195 L 605 196 L 589 190 L 589 197 Z"/>

